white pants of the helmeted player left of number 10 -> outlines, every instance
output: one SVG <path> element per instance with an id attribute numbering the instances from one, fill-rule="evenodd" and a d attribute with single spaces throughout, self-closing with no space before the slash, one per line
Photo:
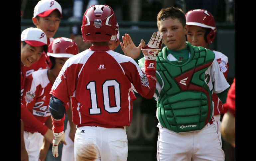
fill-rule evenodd
<path id="1" fill-rule="evenodd" d="M 40 149 L 43 146 L 44 136 L 38 132 L 30 133 L 24 131 L 24 142 L 28 152 L 29 161 L 38 161 Z"/>

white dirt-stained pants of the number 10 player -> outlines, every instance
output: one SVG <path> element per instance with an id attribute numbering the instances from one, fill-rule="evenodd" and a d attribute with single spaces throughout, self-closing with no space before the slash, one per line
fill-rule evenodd
<path id="1" fill-rule="evenodd" d="M 128 141 L 123 128 L 82 126 L 76 130 L 75 161 L 126 161 L 127 154 Z"/>

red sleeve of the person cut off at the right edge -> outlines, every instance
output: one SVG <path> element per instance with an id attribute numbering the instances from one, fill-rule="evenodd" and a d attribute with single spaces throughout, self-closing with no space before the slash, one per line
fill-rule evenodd
<path id="1" fill-rule="evenodd" d="M 231 84 L 231 87 L 227 93 L 227 101 L 224 104 L 225 111 L 230 111 L 234 117 L 236 112 L 236 79 L 234 78 L 233 83 Z"/>

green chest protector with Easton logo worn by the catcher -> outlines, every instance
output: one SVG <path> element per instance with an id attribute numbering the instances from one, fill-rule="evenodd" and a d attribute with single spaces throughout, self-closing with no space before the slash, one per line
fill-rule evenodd
<path id="1" fill-rule="evenodd" d="M 211 91 L 205 83 L 205 71 L 215 54 L 187 42 L 191 56 L 177 65 L 167 58 L 167 47 L 157 57 L 157 80 L 162 90 L 158 95 L 157 117 L 161 125 L 174 132 L 202 129 L 212 116 Z"/>

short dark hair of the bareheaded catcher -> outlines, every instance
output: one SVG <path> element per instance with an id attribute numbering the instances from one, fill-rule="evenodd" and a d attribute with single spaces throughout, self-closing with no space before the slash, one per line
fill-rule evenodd
<path id="1" fill-rule="evenodd" d="M 180 8 L 176 7 L 169 7 L 169 8 L 163 8 L 160 10 L 160 12 L 157 14 L 157 27 L 159 29 L 160 21 L 166 20 L 168 17 L 171 17 L 172 19 L 178 19 L 182 26 L 184 27 L 186 25 L 186 17 L 185 13 Z"/>

